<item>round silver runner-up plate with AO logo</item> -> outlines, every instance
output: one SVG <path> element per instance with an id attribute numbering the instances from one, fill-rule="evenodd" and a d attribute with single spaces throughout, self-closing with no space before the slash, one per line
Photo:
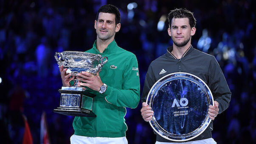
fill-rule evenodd
<path id="1" fill-rule="evenodd" d="M 149 91 L 146 103 L 154 111 L 149 124 L 163 138 L 188 141 L 210 124 L 208 108 L 214 105 L 213 101 L 203 80 L 185 72 L 171 73 Z"/>

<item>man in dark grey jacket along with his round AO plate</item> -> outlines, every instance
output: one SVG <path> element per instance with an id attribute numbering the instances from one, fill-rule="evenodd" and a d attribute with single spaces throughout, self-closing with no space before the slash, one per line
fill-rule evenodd
<path id="1" fill-rule="evenodd" d="M 228 108 L 231 91 L 214 56 L 191 45 L 193 13 L 174 9 L 168 20 L 173 46 L 149 66 L 141 115 L 157 134 L 156 144 L 216 144 L 211 120 Z"/>

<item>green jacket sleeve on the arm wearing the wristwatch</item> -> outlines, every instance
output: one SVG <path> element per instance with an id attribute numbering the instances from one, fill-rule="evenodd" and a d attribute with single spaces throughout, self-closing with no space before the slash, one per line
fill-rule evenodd
<path id="1" fill-rule="evenodd" d="M 140 101 L 140 78 L 136 56 L 129 57 L 125 65 L 122 89 L 107 86 L 103 95 L 107 102 L 118 107 L 136 108 Z"/>

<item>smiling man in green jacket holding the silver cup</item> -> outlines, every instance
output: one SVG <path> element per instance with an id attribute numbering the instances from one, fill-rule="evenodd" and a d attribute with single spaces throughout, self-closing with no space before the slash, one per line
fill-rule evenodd
<path id="1" fill-rule="evenodd" d="M 94 23 L 97 39 L 86 52 L 107 57 L 108 61 L 96 75 L 84 71 L 76 75 L 77 86 L 96 95 L 92 108 L 96 117 L 75 117 L 71 144 L 128 143 L 124 116 L 126 107 L 138 106 L 140 83 L 136 56 L 118 47 L 114 39 L 121 28 L 120 19 L 119 10 L 113 5 L 104 5 L 98 10 Z M 59 70 L 63 86 L 70 86 L 75 76 L 67 75 L 63 66 Z"/>

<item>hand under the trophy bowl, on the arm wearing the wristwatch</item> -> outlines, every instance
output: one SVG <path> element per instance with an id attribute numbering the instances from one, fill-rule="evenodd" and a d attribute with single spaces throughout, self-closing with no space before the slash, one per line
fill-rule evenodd
<path id="1" fill-rule="evenodd" d="M 87 86 L 94 91 L 100 91 L 101 86 L 103 85 L 98 73 L 96 75 L 93 75 L 89 72 L 81 72 L 77 74 L 76 78 L 80 80 L 80 82 L 77 83 L 77 86 Z M 82 83 L 81 81 L 85 83 Z"/>

